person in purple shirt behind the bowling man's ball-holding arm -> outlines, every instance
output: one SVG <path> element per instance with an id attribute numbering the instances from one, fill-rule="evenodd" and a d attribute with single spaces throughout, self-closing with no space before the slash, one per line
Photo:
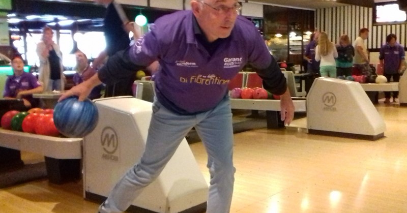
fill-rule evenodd
<path id="1" fill-rule="evenodd" d="M 88 57 L 86 57 L 85 53 L 81 51 L 75 52 L 76 58 L 76 73 L 73 75 L 73 82 L 75 85 L 82 83 L 85 80 L 88 80 L 93 75 L 96 74 L 96 70 L 89 66 Z M 99 84 L 92 89 L 91 94 L 89 94 L 88 98 L 98 99 L 101 97 L 101 90 L 103 88 L 103 84 Z"/>

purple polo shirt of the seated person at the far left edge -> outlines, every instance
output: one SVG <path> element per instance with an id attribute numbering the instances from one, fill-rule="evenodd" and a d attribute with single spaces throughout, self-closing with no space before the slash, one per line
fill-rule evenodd
<path id="1" fill-rule="evenodd" d="M 4 97 L 15 98 L 19 91 L 37 88 L 41 86 L 37 78 L 31 74 L 23 72 L 20 76 L 10 75 L 6 80 L 4 88 Z M 38 100 L 33 98 L 33 95 L 25 95 L 22 98 L 28 100 L 32 107 L 38 105 Z"/>

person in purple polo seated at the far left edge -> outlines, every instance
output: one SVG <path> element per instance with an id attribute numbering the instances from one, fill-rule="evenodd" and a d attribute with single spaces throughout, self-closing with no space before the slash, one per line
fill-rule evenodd
<path id="1" fill-rule="evenodd" d="M 33 94 L 42 93 L 43 86 L 37 78 L 23 70 L 24 61 L 21 56 L 15 56 L 11 60 L 13 75 L 6 80 L 3 97 L 5 99 L 22 99 L 25 107 L 38 107 L 39 100 L 33 98 Z"/>

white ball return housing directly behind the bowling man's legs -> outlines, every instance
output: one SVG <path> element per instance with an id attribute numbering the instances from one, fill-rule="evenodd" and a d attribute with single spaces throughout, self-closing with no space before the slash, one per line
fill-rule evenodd
<path id="1" fill-rule="evenodd" d="M 96 129 L 84 137 L 83 186 L 86 199 L 101 202 L 146 145 L 152 103 L 133 97 L 94 101 Z M 143 189 L 129 209 L 135 212 L 202 212 L 208 184 L 184 138 L 159 177 Z M 199 210 L 198 210 L 199 209 Z"/>

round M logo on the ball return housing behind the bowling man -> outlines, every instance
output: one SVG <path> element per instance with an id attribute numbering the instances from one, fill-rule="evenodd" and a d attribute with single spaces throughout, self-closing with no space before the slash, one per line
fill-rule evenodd
<path id="1" fill-rule="evenodd" d="M 103 159 L 118 161 L 119 157 L 113 154 L 119 147 L 119 140 L 116 131 L 111 127 L 105 127 L 100 135 L 100 143 L 105 153 L 102 155 Z"/>

